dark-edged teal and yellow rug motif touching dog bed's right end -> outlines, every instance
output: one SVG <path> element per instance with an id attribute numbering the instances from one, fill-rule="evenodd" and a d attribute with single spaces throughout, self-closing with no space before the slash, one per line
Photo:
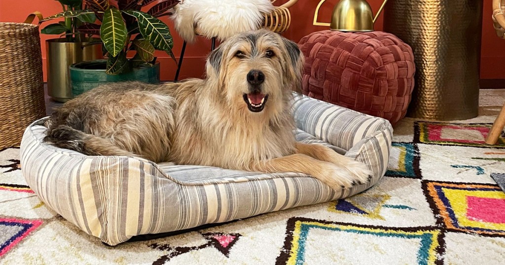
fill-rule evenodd
<path id="1" fill-rule="evenodd" d="M 419 157 L 415 143 L 393 142 L 386 176 L 420 179 Z"/>

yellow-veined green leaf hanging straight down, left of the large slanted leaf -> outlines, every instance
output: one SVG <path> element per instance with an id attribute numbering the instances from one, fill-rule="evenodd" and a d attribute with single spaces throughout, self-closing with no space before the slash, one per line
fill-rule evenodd
<path id="1" fill-rule="evenodd" d="M 119 55 L 126 44 L 126 25 L 121 12 L 115 8 L 108 9 L 100 27 L 100 38 L 112 57 Z"/>

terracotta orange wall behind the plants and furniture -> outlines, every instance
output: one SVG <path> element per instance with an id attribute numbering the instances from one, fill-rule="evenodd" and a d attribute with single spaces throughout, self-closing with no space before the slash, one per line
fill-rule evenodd
<path id="1" fill-rule="evenodd" d="M 334 4 L 338 0 L 329 0 L 321 8 L 320 21 L 329 20 Z M 479 0 L 477 0 L 479 1 Z M 279 0 L 284 3 L 286 0 Z M 312 20 L 318 0 L 299 0 L 290 10 L 293 22 L 290 29 L 284 33 L 284 36 L 298 41 L 301 37 L 314 32 L 326 29 L 322 26 L 313 26 Z M 377 10 L 381 5 L 381 0 L 369 0 L 372 8 Z M 0 0 L 0 22 L 22 22 L 27 14 L 33 11 L 40 11 L 44 16 L 60 12 L 61 6 L 54 0 Z M 482 30 L 482 59 L 481 59 L 481 78 L 483 79 L 505 79 L 505 40 L 496 37 L 491 21 L 491 1 L 484 0 L 483 30 Z M 165 22 L 172 29 L 174 35 L 174 54 L 180 54 L 182 40 L 175 32 L 170 19 L 165 18 Z M 376 30 L 382 30 L 382 17 L 376 23 Z M 42 38 L 42 57 L 44 58 L 45 68 L 45 39 L 54 36 L 41 35 Z M 181 70 L 181 78 L 200 77 L 204 72 L 205 57 L 210 51 L 210 41 L 199 38 L 195 44 L 188 45 L 184 64 Z M 162 79 L 172 80 L 176 64 L 168 58 L 163 52 L 158 53 L 158 60 L 162 64 Z M 45 72 L 45 69 L 44 69 Z"/>

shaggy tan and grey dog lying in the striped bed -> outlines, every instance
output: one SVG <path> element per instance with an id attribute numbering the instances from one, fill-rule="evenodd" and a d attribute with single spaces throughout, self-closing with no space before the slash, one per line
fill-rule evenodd
<path id="1" fill-rule="evenodd" d="M 334 189 L 369 181 L 366 165 L 296 142 L 291 106 L 303 62 L 297 44 L 278 34 L 239 33 L 211 52 L 204 79 L 97 87 L 57 109 L 44 140 L 87 155 L 305 173 Z"/>

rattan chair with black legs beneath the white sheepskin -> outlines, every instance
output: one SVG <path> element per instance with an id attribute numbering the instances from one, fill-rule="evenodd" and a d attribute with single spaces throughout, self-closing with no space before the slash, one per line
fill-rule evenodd
<path id="1" fill-rule="evenodd" d="M 272 3 L 275 4 L 277 0 L 272 0 Z M 294 4 L 296 4 L 298 0 L 289 0 L 285 4 L 281 6 L 277 6 L 270 14 L 264 14 L 264 20 L 262 23 L 262 28 L 271 30 L 275 33 L 283 33 L 285 32 L 289 26 L 291 25 L 291 13 L 289 12 L 289 8 L 291 8 Z M 198 30 L 198 26 L 196 25 L 194 32 L 196 35 L 204 36 Z M 215 36 L 204 36 L 210 38 L 212 40 L 211 51 L 216 48 L 216 37 Z M 184 59 L 184 52 L 186 51 L 187 42 L 184 40 L 181 49 L 181 56 L 179 58 L 179 63 L 177 65 L 177 71 L 175 72 L 174 81 L 179 80 L 179 73 L 182 67 L 182 61 Z"/>

